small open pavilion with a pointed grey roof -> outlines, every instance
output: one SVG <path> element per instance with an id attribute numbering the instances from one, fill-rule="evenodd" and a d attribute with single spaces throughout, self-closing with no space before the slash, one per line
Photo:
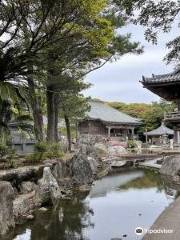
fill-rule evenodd
<path id="1" fill-rule="evenodd" d="M 155 145 L 168 144 L 170 139 L 174 136 L 174 131 L 165 126 L 164 121 L 161 123 L 161 126 L 153 129 L 150 132 L 144 133 L 146 136 L 146 142 Z"/>

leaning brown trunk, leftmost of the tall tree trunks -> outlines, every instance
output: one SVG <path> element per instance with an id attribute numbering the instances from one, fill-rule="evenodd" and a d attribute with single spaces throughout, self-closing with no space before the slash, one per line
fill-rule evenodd
<path id="1" fill-rule="evenodd" d="M 42 109 L 40 105 L 40 100 L 36 95 L 35 91 L 35 84 L 32 78 L 28 78 L 28 86 L 29 86 L 29 93 L 31 98 L 31 108 L 33 112 L 33 119 L 34 119 L 34 133 L 35 137 L 38 141 L 44 140 L 44 132 L 43 132 L 43 115 Z"/>

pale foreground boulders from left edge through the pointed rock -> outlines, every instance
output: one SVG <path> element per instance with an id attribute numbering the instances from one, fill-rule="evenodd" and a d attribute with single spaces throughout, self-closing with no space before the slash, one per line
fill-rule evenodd
<path id="1" fill-rule="evenodd" d="M 29 171 L 26 172 L 29 173 Z M 22 179 L 24 180 L 24 177 Z M 60 186 L 51 173 L 50 167 L 44 167 L 43 176 L 37 183 L 21 182 L 19 194 L 17 194 L 18 190 L 14 191 L 14 189 L 10 182 L 0 182 L 0 235 L 6 234 L 13 228 L 15 222 L 21 223 L 23 219 L 32 220 L 34 217 L 31 213 L 35 208 L 45 204 L 56 204 L 56 201 L 61 198 Z"/>

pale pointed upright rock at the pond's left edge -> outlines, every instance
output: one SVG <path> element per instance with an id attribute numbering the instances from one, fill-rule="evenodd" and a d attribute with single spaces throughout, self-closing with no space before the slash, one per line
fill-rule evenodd
<path id="1" fill-rule="evenodd" d="M 38 181 L 36 193 L 37 202 L 41 204 L 55 204 L 61 198 L 60 187 L 49 167 L 44 168 L 43 177 Z"/>

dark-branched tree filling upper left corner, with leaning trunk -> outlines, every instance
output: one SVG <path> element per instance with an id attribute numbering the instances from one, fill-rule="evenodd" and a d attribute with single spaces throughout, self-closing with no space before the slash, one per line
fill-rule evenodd
<path id="1" fill-rule="evenodd" d="M 40 57 L 45 53 L 45 49 L 69 38 L 68 33 L 71 29 L 67 25 L 79 22 L 84 11 L 83 5 L 79 8 L 80 2 L 73 0 L 0 2 L 0 82 L 13 80 L 21 84 L 27 81 L 38 140 L 43 139 L 42 114 L 35 89 L 37 81 L 34 81 L 32 74 L 35 74 L 37 66 L 40 65 L 42 71 L 46 70 L 42 68 L 42 59 L 46 58 Z"/>

